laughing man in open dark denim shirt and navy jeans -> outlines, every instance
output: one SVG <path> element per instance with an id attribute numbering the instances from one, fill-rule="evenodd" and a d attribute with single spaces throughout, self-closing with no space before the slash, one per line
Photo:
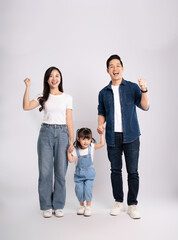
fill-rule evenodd
<path id="1" fill-rule="evenodd" d="M 112 55 L 106 65 L 111 82 L 99 92 L 97 130 L 98 133 L 103 133 L 106 122 L 107 152 L 111 163 L 111 183 L 115 199 L 110 214 L 116 216 L 125 211 L 122 182 L 122 153 L 124 153 L 128 174 L 127 213 L 131 218 L 138 219 L 141 218 L 136 207 L 139 189 L 140 129 L 136 106 L 142 110 L 149 108 L 146 80 L 139 79 L 139 86 L 124 80 L 122 77 L 124 67 L 118 55 Z"/>

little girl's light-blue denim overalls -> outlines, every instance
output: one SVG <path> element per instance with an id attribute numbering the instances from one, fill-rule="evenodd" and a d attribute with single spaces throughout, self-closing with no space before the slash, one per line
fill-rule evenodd
<path id="1" fill-rule="evenodd" d="M 91 201 L 96 175 L 91 157 L 91 146 L 88 147 L 87 155 L 81 156 L 78 148 L 76 148 L 76 152 L 78 163 L 74 174 L 75 193 L 79 202 Z"/>

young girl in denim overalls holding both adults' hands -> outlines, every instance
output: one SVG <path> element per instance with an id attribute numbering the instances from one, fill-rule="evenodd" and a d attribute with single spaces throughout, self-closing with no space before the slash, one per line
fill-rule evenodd
<path id="1" fill-rule="evenodd" d="M 104 134 L 100 134 L 100 143 L 94 144 L 92 132 L 89 128 L 81 128 L 77 131 L 75 149 L 72 153 L 68 151 L 69 162 L 75 160 L 76 170 L 74 174 L 75 193 L 80 202 L 78 215 L 91 216 L 91 200 L 95 170 L 93 167 L 94 150 L 104 146 Z M 86 201 L 86 207 L 84 205 Z"/>

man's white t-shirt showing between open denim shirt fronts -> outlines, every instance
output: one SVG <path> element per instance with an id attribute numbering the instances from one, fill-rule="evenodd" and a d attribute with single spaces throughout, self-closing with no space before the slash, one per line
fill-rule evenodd
<path id="1" fill-rule="evenodd" d="M 123 132 L 119 86 L 111 85 L 114 94 L 114 132 Z"/>

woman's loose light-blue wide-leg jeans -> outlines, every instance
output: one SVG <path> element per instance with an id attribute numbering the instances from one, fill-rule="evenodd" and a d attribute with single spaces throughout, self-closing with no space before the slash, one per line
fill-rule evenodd
<path id="1" fill-rule="evenodd" d="M 69 136 L 66 125 L 42 124 L 37 146 L 41 210 L 63 209 L 65 205 L 68 145 Z"/>

